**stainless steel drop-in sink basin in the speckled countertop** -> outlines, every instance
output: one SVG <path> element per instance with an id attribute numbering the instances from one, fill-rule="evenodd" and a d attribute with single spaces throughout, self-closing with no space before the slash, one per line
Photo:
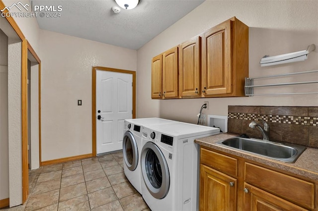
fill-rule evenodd
<path id="1" fill-rule="evenodd" d="M 306 150 L 305 146 L 241 137 L 233 137 L 227 140 L 218 141 L 217 144 L 284 162 L 295 162 Z"/>

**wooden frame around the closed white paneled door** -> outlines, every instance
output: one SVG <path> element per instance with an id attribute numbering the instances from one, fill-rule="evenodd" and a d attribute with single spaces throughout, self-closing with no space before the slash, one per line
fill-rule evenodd
<path id="1" fill-rule="evenodd" d="M 96 157 L 96 70 L 126 73 L 133 76 L 133 118 L 136 118 L 136 71 L 115 69 L 109 67 L 92 66 L 92 89 L 91 89 L 91 110 L 92 110 L 92 156 Z"/>

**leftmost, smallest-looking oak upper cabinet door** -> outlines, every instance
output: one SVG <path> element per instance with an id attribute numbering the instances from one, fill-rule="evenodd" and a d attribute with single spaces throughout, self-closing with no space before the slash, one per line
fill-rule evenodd
<path id="1" fill-rule="evenodd" d="M 162 54 L 152 60 L 151 66 L 151 98 L 162 98 Z"/>

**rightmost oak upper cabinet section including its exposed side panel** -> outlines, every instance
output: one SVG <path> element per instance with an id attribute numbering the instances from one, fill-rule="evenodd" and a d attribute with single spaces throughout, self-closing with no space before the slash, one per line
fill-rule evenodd
<path id="1" fill-rule="evenodd" d="M 202 97 L 244 96 L 248 27 L 233 17 L 202 37 Z"/>

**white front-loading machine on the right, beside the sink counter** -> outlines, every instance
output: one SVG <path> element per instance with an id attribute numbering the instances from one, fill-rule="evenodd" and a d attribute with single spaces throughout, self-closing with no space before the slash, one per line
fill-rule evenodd
<path id="1" fill-rule="evenodd" d="M 219 128 L 174 123 L 142 127 L 141 183 L 152 211 L 198 210 L 197 138 L 216 135 Z"/>

